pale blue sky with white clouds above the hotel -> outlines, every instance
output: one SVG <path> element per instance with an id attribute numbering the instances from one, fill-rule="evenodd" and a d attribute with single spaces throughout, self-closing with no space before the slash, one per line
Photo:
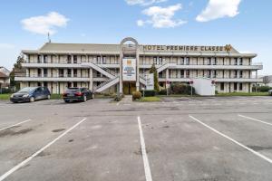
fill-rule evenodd
<path id="1" fill-rule="evenodd" d="M 55 43 L 225 45 L 256 52 L 272 74 L 271 0 L 1 0 L 0 66 Z"/>

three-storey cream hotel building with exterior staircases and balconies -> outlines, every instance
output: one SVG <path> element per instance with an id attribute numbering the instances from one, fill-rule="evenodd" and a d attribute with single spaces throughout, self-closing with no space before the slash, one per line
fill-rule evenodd
<path id="1" fill-rule="evenodd" d="M 16 75 L 21 88 L 46 86 L 52 93 L 68 87 L 87 87 L 93 92 L 131 94 L 146 86 L 144 74 L 156 65 L 161 87 L 188 83 L 193 78 L 216 82 L 219 92 L 250 92 L 261 82 L 253 63 L 255 53 L 240 53 L 230 45 L 141 45 L 133 38 L 120 44 L 45 43 L 39 50 L 24 50 L 25 74 Z M 135 80 L 124 81 L 122 62 L 135 60 Z"/>

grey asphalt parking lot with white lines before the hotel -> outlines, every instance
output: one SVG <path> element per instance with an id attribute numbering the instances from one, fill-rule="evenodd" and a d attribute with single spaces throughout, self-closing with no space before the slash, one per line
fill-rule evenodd
<path id="1" fill-rule="evenodd" d="M 272 97 L 0 101 L 0 181 L 270 181 Z"/>

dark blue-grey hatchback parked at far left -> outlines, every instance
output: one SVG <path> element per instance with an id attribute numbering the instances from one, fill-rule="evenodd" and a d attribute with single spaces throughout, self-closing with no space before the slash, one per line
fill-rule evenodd
<path id="1" fill-rule="evenodd" d="M 50 100 L 51 93 L 46 87 L 26 87 L 12 94 L 12 102 L 34 102 L 35 100 Z"/>

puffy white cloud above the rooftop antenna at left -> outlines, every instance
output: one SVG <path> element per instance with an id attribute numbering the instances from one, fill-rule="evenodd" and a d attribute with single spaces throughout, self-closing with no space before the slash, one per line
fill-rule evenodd
<path id="1" fill-rule="evenodd" d="M 21 21 L 26 31 L 39 34 L 56 33 L 56 27 L 65 27 L 69 21 L 63 14 L 51 12 L 46 15 L 34 16 Z"/>

